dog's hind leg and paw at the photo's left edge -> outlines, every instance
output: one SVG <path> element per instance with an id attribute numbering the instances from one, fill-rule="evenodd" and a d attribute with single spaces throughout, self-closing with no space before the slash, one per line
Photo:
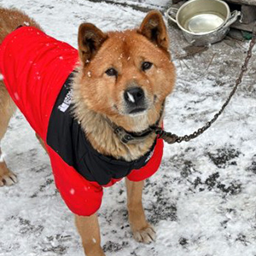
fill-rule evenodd
<path id="1" fill-rule="evenodd" d="M 0 82 L 0 142 L 7 130 L 9 119 L 15 113 L 15 103 L 11 100 L 3 82 Z M 12 185 L 17 182 L 15 174 L 6 166 L 0 148 L 0 186 Z"/>

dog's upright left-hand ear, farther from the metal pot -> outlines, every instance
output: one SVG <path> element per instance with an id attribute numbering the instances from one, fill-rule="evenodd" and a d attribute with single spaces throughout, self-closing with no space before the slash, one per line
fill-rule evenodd
<path id="1" fill-rule="evenodd" d="M 79 26 L 79 58 L 84 65 L 96 55 L 107 38 L 107 34 L 93 24 L 82 23 Z"/>

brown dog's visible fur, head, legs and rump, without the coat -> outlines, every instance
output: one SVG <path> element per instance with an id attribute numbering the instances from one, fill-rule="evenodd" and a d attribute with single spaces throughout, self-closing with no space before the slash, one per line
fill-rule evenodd
<path id="1" fill-rule="evenodd" d="M 15 9 L 0 9 L 0 43 L 18 26 L 40 26 Z M 112 125 L 129 134 L 147 131 L 150 125 L 161 125 L 166 96 L 173 89 L 175 68 L 168 52 L 168 35 L 162 16 L 150 12 L 138 29 L 103 33 L 88 23 L 79 27 L 79 65 L 73 79 L 73 115 L 92 147 L 115 160 L 130 162 L 141 158 L 153 147 L 156 136 L 147 133 L 143 139 L 124 143 Z M 3 81 L 0 82 L 0 140 L 15 103 Z M 45 148 L 45 141 L 39 136 Z M 48 149 L 46 147 L 46 149 Z M 0 186 L 16 183 L 15 174 L 7 168 L 0 149 Z M 143 181 L 126 179 L 131 230 L 137 241 L 151 242 L 155 233 L 143 211 Z M 75 216 L 88 256 L 105 255 L 101 247 L 96 213 Z"/>

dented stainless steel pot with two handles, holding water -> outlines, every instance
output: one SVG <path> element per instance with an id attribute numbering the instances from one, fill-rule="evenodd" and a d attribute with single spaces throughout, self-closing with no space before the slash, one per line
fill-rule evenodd
<path id="1" fill-rule="evenodd" d="M 229 5 L 220 0 L 190 0 L 179 9 L 168 9 L 166 15 L 177 23 L 189 44 L 206 45 L 222 40 L 241 13 L 230 14 Z"/>

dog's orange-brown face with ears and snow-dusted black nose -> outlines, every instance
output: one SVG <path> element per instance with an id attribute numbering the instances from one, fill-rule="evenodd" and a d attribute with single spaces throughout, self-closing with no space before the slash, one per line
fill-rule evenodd
<path id="1" fill-rule="evenodd" d="M 125 32 L 105 34 L 96 26 L 82 24 L 79 58 L 81 94 L 88 108 L 130 131 L 148 128 L 159 118 L 175 82 L 160 13 L 149 13 L 139 30 Z M 138 119 L 140 124 L 131 127 Z"/>

